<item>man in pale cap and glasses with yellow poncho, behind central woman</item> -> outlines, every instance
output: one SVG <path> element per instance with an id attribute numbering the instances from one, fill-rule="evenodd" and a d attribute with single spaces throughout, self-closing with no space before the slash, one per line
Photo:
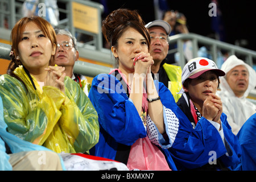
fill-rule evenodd
<path id="1" fill-rule="evenodd" d="M 169 23 L 163 20 L 154 20 L 145 26 L 150 33 L 150 55 L 153 57 L 154 65 L 151 72 L 154 80 L 159 80 L 171 90 L 177 101 L 180 97 L 176 94 L 181 89 L 181 68 L 166 63 L 166 56 L 169 49 L 168 35 L 171 32 Z"/>

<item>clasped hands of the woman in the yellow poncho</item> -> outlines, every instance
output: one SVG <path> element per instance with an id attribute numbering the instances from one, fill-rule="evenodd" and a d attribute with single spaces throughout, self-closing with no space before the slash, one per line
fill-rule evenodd
<path id="1" fill-rule="evenodd" d="M 65 85 L 64 78 L 66 73 L 64 73 L 65 67 L 52 67 L 49 66 L 45 68 L 48 72 L 46 81 L 44 82 L 45 86 L 54 86 L 60 89 L 65 94 Z"/>

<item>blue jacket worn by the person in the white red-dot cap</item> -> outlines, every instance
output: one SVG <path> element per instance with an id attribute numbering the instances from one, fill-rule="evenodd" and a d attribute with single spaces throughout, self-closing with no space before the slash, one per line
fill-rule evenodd
<path id="1" fill-rule="evenodd" d="M 213 159 L 222 162 L 222 168 L 240 169 L 241 147 L 236 135 L 232 133 L 226 115 L 221 114 L 221 125 L 224 133 L 224 142 L 216 128 L 204 117 L 197 122 L 195 129 L 191 123 L 193 117 L 191 111 L 181 96 L 177 105 L 182 109 L 177 116 L 181 115 L 189 119 L 180 118 L 179 132 L 176 136 L 170 152 L 178 169 L 217 169 L 220 166 L 208 165 Z M 226 155 L 228 154 L 228 155 Z M 203 167 L 204 165 L 207 167 Z M 202 168 L 203 167 L 203 168 Z"/>

